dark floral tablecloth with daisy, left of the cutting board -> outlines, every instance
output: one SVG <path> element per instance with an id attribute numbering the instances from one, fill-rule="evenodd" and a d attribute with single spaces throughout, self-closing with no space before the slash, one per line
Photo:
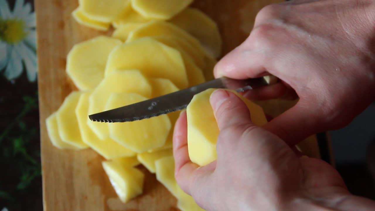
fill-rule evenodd
<path id="1" fill-rule="evenodd" d="M 42 210 L 33 0 L 0 0 L 0 211 Z"/>

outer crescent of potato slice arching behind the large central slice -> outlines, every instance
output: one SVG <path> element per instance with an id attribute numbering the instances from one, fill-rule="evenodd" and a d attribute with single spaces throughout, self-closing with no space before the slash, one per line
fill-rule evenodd
<path id="1" fill-rule="evenodd" d="M 200 68 L 205 66 L 205 51 L 199 41 L 183 29 L 165 21 L 153 20 L 143 24 L 138 29 L 130 32 L 126 42 L 132 42 L 136 39 L 150 36 L 166 36 L 169 39 L 173 39 L 192 57 L 197 66 Z"/>

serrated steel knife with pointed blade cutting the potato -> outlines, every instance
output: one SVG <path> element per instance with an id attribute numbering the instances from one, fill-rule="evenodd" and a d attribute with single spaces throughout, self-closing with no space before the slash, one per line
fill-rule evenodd
<path id="1" fill-rule="evenodd" d="M 276 82 L 277 78 L 275 76 L 249 78 L 245 80 L 221 77 L 167 95 L 126 105 L 117 109 L 92 114 L 89 115 L 89 118 L 95 122 L 132 122 L 141 119 L 148 119 L 186 109 L 193 96 L 206 89 L 232 89 L 237 92 L 245 92 L 249 89 L 257 89 Z"/>

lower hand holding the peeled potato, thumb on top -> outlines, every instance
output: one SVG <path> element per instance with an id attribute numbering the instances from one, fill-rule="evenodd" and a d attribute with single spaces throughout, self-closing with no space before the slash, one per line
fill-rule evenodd
<path id="1" fill-rule="evenodd" d="M 187 151 L 187 119 L 174 129 L 175 178 L 207 211 L 342 210 L 375 208 L 351 195 L 338 172 L 324 161 L 299 157 L 278 136 L 251 122 L 245 103 L 234 93 L 211 95 L 220 134 L 217 160 L 199 167 Z"/>

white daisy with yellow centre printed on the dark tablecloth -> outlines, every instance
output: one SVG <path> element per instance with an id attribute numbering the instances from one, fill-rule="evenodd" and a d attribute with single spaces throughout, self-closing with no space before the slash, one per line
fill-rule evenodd
<path id="1" fill-rule="evenodd" d="M 16 0 L 13 12 L 0 0 L 0 71 L 13 80 L 26 69 L 29 81 L 37 75 L 35 14 L 30 3 Z"/>

